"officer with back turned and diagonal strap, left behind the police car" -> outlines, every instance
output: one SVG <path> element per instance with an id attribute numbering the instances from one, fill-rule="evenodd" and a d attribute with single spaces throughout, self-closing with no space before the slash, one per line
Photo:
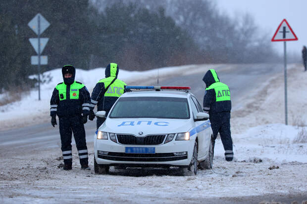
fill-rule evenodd
<path id="1" fill-rule="evenodd" d="M 107 116 L 118 97 L 126 91 L 127 84 L 117 79 L 118 70 L 119 67 L 115 63 L 110 63 L 106 66 L 104 71 L 105 78 L 96 84 L 92 92 L 89 120 L 93 121 L 95 118 L 93 109 L 96 105 L 97 111 L 105 111 Z M 97 117 L 97 129 L 104 121 L 105 118 Z"/>

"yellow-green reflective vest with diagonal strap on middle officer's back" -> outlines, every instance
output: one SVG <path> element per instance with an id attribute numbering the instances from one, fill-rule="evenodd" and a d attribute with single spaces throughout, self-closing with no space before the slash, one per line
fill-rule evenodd
<path id="1" fill-rule="evenodd" d="M 105 79 L 100 80 L 99 82 L 104 83 L 104 88 L 106 88 L 112 81 L 114 77 L 108 77 Z M 104 93 L 104 96 L 111 96 L 111 97 L 119 97 L 124 93 L 125 85 L 127 85 L 125 82 L 116 79 L 107 89 L 107 91 Z"/>

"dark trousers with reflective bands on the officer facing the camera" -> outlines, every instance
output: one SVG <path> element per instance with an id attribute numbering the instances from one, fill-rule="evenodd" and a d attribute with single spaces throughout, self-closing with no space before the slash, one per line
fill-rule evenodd
<path id="1" fill-rule="evenodd" d="M 73 132 L 80 164 L 88 165 L 88 150 L 86 146 L 85 129 L 82 116 L 59 117 L 59 130 L 64 164 L 72 163 L 71 137 Z"/>

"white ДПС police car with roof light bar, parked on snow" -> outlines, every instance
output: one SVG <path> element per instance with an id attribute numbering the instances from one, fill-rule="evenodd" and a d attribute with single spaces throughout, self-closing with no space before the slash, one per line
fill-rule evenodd
<path id="1" fill-rule="evenodd" d="M 95 173 L 109 166 L 212 168 L 212 129 L 190 87 L 127 86 L 94 139 Z"/>

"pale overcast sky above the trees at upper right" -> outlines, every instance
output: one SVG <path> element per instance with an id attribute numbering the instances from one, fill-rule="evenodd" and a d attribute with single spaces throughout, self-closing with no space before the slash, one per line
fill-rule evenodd
<path id="1" fill-rule="evenodd" d="M 215 0 L 214 0 L 215 1 Z M 287 41 L 287 52 L 301 52 L 307 45 L 307 0 L 216 0 L 220 11 L 234 16 L 250 13 L 256 24 L 273 37 L 283 19 L 286 19 L 298 37 L 298 41 Z M 283 53 L 283 42 L 271 42 L 279 53 Z M 298 53 L 300 54 L 300 53 Z"/>

